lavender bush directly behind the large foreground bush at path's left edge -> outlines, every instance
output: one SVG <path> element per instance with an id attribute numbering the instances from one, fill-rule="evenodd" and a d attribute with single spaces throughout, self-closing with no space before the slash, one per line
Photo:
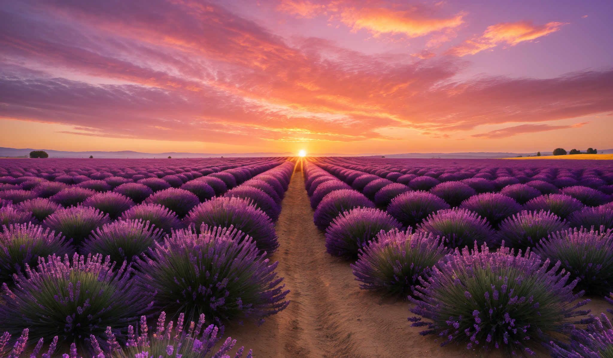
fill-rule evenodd
<path id="1" fill-rule="evenodd" d="M 259 208 L 251 205 L 251 200 L 239 197 L 215 197 L 192 210 L 186 216 L 186 226 L 230 227 L 234 226 L 256 242 L 257 248 L 273 253 L 279 242 L 272 220 Z"/>

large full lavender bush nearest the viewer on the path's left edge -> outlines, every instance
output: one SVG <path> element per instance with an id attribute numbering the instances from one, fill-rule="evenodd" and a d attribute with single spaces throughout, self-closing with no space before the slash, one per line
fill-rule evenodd
<path id="1" fill-rule="evenodd" d="M 220 323 L 260 321 L 287 307 L 278 262 L 269 264 L 250 237 L 231 226 L 203 225 L 200 232 L 177 230 L 137 260 L 136 280 L 156 292 L 158 307 L 185 311 L 188 319 L 204 313 Z"/>

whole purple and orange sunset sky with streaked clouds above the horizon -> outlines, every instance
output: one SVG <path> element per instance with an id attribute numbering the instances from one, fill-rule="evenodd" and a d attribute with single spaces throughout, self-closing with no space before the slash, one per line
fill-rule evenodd
<path id="1" fill-rule="evenodd" d="M 0 8 L 0 147 L 613 148 L 610 1 L 44 0 Z"/>

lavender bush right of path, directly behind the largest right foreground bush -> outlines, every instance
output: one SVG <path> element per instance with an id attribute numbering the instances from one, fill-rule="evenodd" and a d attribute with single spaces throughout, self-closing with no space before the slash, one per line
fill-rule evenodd
<path id="1" fill-rule="evenodd" d="M 361 289 L 406 297 L 448 251 L 432 234 L 391 230 L 363 246 L 351 268 Z"/>

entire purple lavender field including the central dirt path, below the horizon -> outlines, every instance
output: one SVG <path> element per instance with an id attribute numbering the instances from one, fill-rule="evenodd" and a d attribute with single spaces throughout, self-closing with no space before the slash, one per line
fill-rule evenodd
<path id="1" fill-rule="evenodd" d="M 1 357 L 609 357 L 613 162 L 0 159 L 0 280 Z"/>

